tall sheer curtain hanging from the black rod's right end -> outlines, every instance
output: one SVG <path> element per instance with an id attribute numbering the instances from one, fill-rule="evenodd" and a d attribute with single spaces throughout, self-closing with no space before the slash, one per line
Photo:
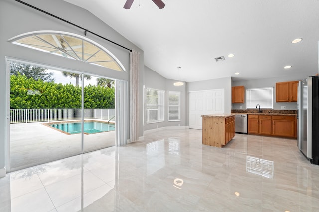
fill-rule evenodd
<path id="1" fill-rule="evenodd" d="M 139 140 L 139 56 L 140 53 L 130 52 L 130 139 Z"/>

